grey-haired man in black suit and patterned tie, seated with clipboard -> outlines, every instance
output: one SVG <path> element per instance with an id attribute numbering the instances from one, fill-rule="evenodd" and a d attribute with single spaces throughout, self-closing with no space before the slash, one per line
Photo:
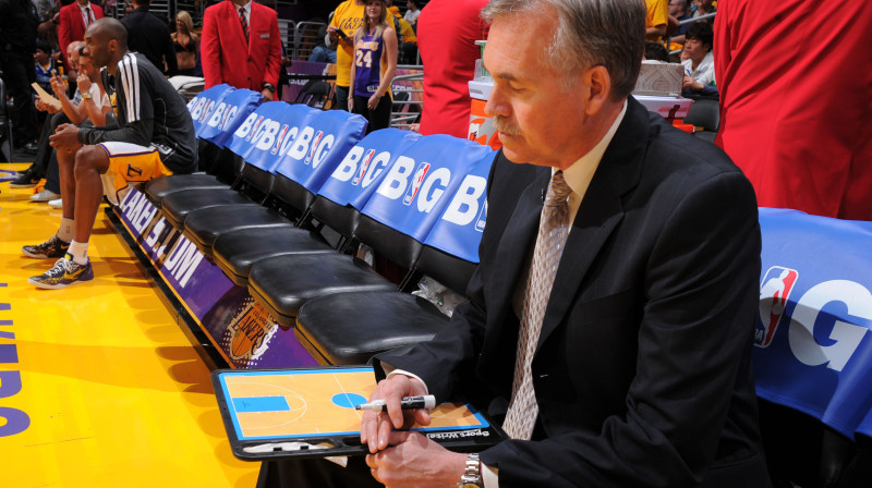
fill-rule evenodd
<path id="1" fill-rule="evenodd" d="M 629 97 L 644 4 L 493 0 L 484 14 L 486 111 L 508 160 L 491 173 L 469 302 L 433 341 L 376 357 L 372 398 L 388 413 L 362 422 L 372 475 L 388 487 L 768 486 L 751 371 L 753 190 L 720 150 Z M 399 408 L 427 392 L 470 399 L 512 439 L 468 456 L 393 430 L 428 422 Z"/>

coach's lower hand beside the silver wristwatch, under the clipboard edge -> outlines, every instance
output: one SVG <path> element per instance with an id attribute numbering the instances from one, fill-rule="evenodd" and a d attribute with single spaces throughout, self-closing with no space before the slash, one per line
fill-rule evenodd
<path id="1" fill-rule="evenodd" d="M 452 487 L 467 455 L 451 452 L 419 432 L 392 432 L 392 448 L 366 455 L 370 473 L 386 487 Z"/>

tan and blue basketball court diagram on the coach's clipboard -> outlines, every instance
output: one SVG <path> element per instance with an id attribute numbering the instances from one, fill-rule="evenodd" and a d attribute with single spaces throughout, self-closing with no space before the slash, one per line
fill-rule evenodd
<path id="1" fill-rule="evenodd" d="M 375 390 L 372 368 L 227 371 L 219 385 L 240 441 L 356 436 L 362 411 Z M 220 395 L 219 395 L 220 396 Z M 461 403 L 431 412 L 420 431 L 487 428 L 481 414 Z"/>

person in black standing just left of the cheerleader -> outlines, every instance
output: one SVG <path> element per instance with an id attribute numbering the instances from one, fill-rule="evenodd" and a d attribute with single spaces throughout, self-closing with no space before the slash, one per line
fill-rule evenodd
<path id="1" fill-rule="evenodd" d="M 173 76 L 179 70 L 170 28 L 148 11 L 150 5 L 152 0 L 133 0 L 133 12 L 121 19 L 128 29 L 128 47 L 145 56 L 166 76 Z"/>

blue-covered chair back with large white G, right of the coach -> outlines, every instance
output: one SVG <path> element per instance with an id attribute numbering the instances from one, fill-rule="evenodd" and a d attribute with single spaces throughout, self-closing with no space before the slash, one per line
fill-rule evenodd
<path id="1" fill-rule="evenodd" d="M 770 469 L 832 486 L 852 442 L 872 437 L 872 222 L 761 208 L 760 225 L 754 376 Z"/>

